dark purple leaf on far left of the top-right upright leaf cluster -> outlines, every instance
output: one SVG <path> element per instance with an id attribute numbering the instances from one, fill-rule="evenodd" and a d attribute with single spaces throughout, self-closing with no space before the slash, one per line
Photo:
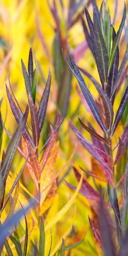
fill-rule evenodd
<path id="1" fill-rule="evenodd" d="M 97 51 L 96 38 L 95 38 L 95 35 L 94 35 L 94 31 L 93 31 L 93 21 L 91 20 L 91 17 L 89 15 L 89 12 L 87 11 L 86 7 L 85 7 L 85 15 L 86 15 L 87 23 L 88 23 L 88 26 L 89 26 L 89 29 L 90 29 L 90 36 L 91 36 L 93 51 L 94 51 L 94 55 L 95 55 L 95 59 L 96 59 L 96 65 L 97 65 L 97 69 L 98 69 L 98 72 L 99 72 L 99 77 L 100 77 L 100 80 L 101 80 L 101 83 L 102 83 L 102 87 L 104 89 L 105 88 L 104 78 L 103 78 L 102 69 L 101 69 L 101 66 L 100 66 L 100 56 L 99 56 L 98 51 Z"/>

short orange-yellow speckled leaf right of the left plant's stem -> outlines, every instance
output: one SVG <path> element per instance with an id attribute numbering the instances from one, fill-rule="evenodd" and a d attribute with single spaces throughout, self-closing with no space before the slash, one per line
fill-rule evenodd
<path id="1" fill-rule="evenodd" d="M 52 189 L 49 193 L 49 195 L 47 196 L 47 199 L 44 201 L 44 203 L 41 205 L 40 207 L 40 216 L 47 210 L 49 209 L 49 207 L 51 206 L 55 195 L 57 193 L 57 186 L 56 186 L 56 180 L 54 181 L 54 184 L 52 186 Z"/>

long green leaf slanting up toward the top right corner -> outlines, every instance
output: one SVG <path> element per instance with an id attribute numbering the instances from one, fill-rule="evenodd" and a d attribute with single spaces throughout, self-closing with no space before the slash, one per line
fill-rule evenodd
<path id="1" fill-rule="evenodd" d="M 118 29 L 117 34 L 116 34 L 116 38 L 114 40 L 114 43 L 113 43 L 113 46 L 112 46 L 112 49 L 111 49 L 111 54 L 110 54 L 110 58 L 109 58 L 108 74 L 110 73 L 111 66 L 113 64 L 113 60 L 114 60 L 114 57 L 115 57 L 115 54 L 116 54 L 116 49 L 118 47 L 119 40 L 120 40 L 120 37 L 121 37 L 121 34 L 122 34 L 122 29 L 123 29 L 124 24 L 125 24 L 125 18 L 126 18 L 126 5 L 124 7 L 124 12 L 123 12 L 122 20 L 121 20 L 119 29 Z"/>

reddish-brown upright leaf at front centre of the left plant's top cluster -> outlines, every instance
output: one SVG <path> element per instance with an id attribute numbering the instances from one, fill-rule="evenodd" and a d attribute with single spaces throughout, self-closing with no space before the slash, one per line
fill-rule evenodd
<path id="1" fill-rule="evenodd" d="M 34 102 L 29 94 L 29 107 L 30 107 L 30 113 L 31 113 L 31 124 L 32 124 L 32 135 L 34 138 L 35 147 L 38 148 L 38 143 L 40 139 L 40 126 L 38 122 L 38 114 L 36 110 L 36 106 L 34 105 Z"/>

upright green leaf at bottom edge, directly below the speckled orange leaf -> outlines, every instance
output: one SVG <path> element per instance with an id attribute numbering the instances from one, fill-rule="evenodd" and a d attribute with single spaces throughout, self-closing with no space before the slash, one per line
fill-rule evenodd
<path id="1" fill-rule="evenodd" d="M 44 256 L 44 246 L 45 246 L 45 233 L 44 233 L 44 221 L 41 217 L 40 225 L 40 241 L 39 241 L 39 255 Z"/>

